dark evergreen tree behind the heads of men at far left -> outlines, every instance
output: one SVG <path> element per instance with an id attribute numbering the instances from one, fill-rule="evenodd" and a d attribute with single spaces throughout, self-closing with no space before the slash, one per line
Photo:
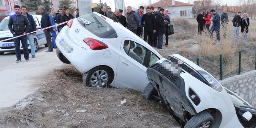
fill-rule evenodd
<path id="1" fill-rule="evenodd" d="M 28 12 L 33 12 L 35 11 L 36 14 L 40 14 L 38 12 L 38 7 L 42 5 L 45 7 L 45 10 L 48 11 L 50 9 L 50 1 L 49 0 L 24 0 L 22 3 L 26 5 Z"/>

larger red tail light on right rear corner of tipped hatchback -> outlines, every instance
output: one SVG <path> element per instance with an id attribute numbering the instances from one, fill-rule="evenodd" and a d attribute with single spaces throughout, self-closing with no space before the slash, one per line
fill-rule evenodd
<path id="1" fill-rule="evenodd" d="M 83 42 L 85 42 L 87 45 L 89 45 L 92 50 L 102 50 L 102 49 L 108 48 L 106 43 L 103 43 L 103 42 L 93 39 L 93 38 L 85 38 L 85 39 L 83 39 Z"/>

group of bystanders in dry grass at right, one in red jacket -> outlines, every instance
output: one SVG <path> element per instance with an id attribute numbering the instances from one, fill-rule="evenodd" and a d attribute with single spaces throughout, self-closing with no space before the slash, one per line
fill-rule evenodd
<path id="1" fill-rule="evenodd" d="M 228 14 L 227 14 L 227 8 L 223 9 L 223 13 L 221 16 L 215 12 L 214 9 L 211 11 L 212 16 L 209 14 L 209 11 L 206 10 L 205 12 L 202 10 L 200 14 L 197 15 L 197 22 L 198 22 L 198 34 L 202 34 L 204 30 L 208 31 L 210 36 L 213 36 L 213 32 L 216 32 L 216 40 L 220 41 L 220 27 L 222 26 L 223 29 L 223 37 L 226 38 L 227 33 L 227 25 L 228 25 Z M 209 29 L 212 21 L 212 26 Z M 221 22 L 221 23 L 220 23 Z M 233 41 L 238 42 L 239 37 L 239 29 L 241 27 L 241 33 L 243 37 L 243 41 L 247 41 L 247 33 L 249 30 L 249 18 L 247 17 L 247 14 L 244 13 L 241 17 L 241 12 L 239 11 L 237 15 L 232 20 L 233 23 Z"/>

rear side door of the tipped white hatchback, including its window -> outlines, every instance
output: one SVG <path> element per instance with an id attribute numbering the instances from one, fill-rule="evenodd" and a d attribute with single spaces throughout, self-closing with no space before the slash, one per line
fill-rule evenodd
<path id="1" fill-rule="evenodd" d="M 135 89 L 138 85 L 143 84 L 142 88 L 137 89 L 143 91 L 144 86 L 148 83 L 146 78 L 147 67 L 143 65 L 146 51 L 147 48 L 143 47 L 135 40 L 130 38 L 123 39 L 118 66 L 116 68 L 115 86 Z"/>

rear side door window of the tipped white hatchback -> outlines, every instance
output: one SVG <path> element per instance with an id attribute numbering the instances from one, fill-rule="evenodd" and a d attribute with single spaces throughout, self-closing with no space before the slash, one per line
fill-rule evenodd
<path id="1" fill-rule="evenodd" d="M 127 55 L 140 64 L 144 64 L 147 48 L 131 40 L 125 40 L 123 48 Z"/>

